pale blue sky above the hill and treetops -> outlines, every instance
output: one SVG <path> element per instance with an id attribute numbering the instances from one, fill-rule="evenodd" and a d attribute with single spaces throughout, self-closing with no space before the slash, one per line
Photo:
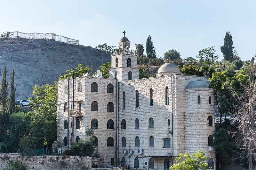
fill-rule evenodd
<path id="1" fill-rule="evenodd" d="M 125 36 L 131 49 L 152 37 L 156 55 L 175 49 L 181 58 L 220 46 L 226 31 L 242 60 L 256 52 L 256 1 L 253 0 L 0 0 L 0 32 L 56 33 L 96 47 L 118 46 Z"/>

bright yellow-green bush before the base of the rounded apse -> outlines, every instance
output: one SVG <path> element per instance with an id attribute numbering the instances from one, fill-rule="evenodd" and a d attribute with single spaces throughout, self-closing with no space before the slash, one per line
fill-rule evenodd
<path id="1" fill-rule="evenodd" d="M 171 170 L 206 170 L 208 164 L 205 163 L 209 157 L 204 156 L 204 152 L 198 150 L 196 153 L 188 154 L 187 152 L 184 155 L 179 154 L 175 160 L 177 164 L 173 164 Z"/>

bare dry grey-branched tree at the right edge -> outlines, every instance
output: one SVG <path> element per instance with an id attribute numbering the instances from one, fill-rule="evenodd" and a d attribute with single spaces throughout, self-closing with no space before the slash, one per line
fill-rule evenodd
<path id="1" fill-rule="evenodd" d="M 234 117 L 238 117 L 238 129 L 233 133 L 236 138 L 236 144 L 240 149 L 239 158 L 248 159 L 249 170 L 253 166 L 253 153 L 255 152 L 256 138 L 256 63 L 255 57 L 252 58 L 249 66 L 249 79 L 246 85 L 240 83 L 242 89 L 240 92 L 231 88 L 234 100 L 236 101 L 236 111 Z"/>

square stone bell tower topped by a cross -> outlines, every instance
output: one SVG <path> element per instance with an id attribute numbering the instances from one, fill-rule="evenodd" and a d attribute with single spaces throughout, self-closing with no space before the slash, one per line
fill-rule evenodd
<path id="1" fill-rule="evenodd" d="M 137 68 L 137 55 L 130 53 L 130 41 L 127 37 L 118 42 L 118 54 L 111 56 L 111 68 L 109 78 L 116 78 L 119 81 L 139 79 L 139 68 Z"/>

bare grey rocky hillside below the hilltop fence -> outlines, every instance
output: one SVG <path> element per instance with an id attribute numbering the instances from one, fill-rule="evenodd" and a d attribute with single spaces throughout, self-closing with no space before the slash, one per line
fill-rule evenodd
<path id="1" fill-rule="evenodd" d="M 90 61 L 91 60 L 91 61 Z M 53 84 L 66 70 L 85 63 L 92 73 L 102 64 L 111 61 L 111 56 L 90 46 L 77 46 L 44 39 L 0 38 L 1 79 L 4 66 L 7 81 L 12 69 L 15 71 L 16 100 L 32 96 L 32 88 L 38 84 Z"/>

